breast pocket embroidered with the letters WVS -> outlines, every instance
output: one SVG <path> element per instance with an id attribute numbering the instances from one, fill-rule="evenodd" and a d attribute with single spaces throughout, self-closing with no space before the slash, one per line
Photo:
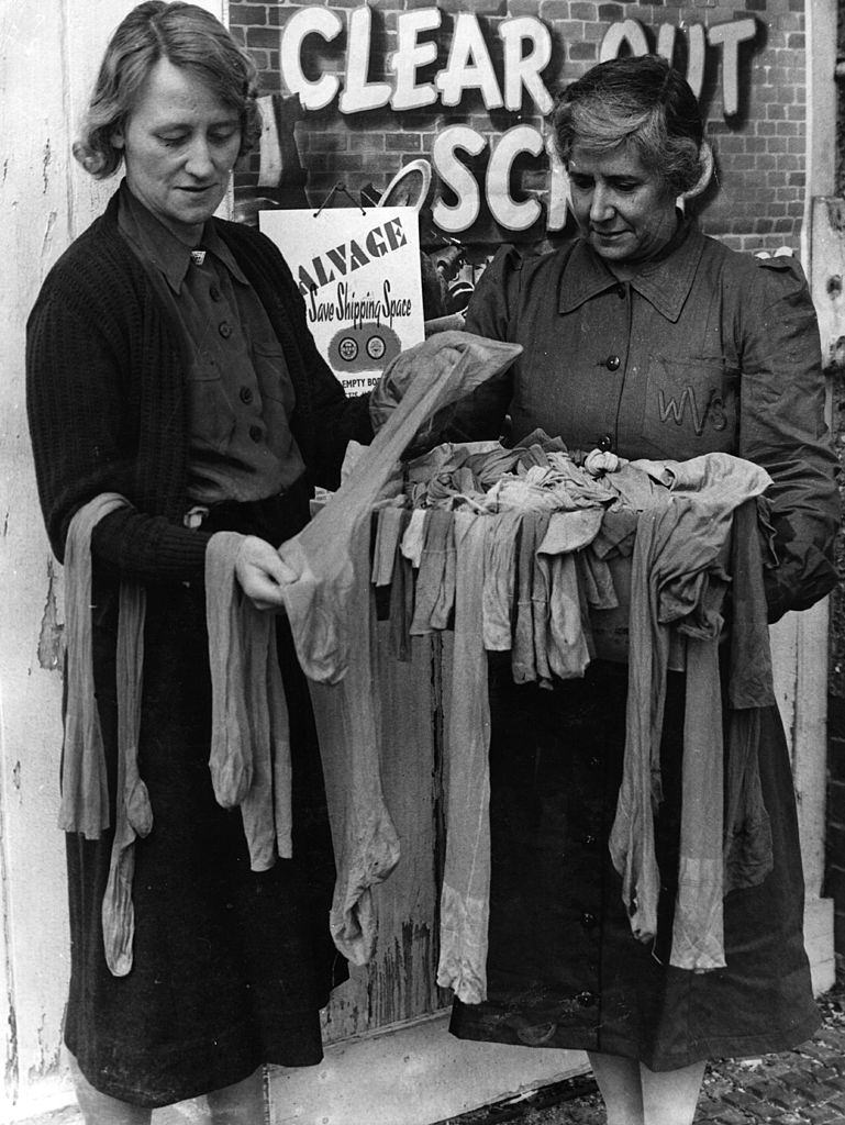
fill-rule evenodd
<path id="1" fill-rule="evenodd" d="M 651 456 L 735 452 L 738 394 L 739 371 L 722 359 L 649 356 L 641 436 Z"/>

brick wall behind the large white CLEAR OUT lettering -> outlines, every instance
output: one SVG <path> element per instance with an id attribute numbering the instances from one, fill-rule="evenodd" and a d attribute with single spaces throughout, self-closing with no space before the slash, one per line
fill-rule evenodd
<path id="1" fill-rule="evenodd" d="M 302 6 L 286 2 L 231 0 L 230 22 L 233 33 L 252 54 L 261 72 L 264 93 L 287 94 L 280 70 L 282 30 Z M 309 3 L 327 7 L 344 21 L 359 0 Z M 403 11 L 431 8 L 428 0 L 375 0 L 372 11 L 372 51 L 369 79 L 388 79 L 386 58 L 396 45 L 396 19 Z M 435 70 L 446 65 L 453 20 L 459 11 L 476 15 L 497 73 L 501 73 L 501 43 L 497 25 L 505 17 L 531 16 L 549 29 L 552 56 L 543 81 L 554 93 L 587 70 L 599 58 L 602 38 L 612 24 L 636 20 L 649 48 L 654 50 L 662 24 L 677 28 L 701 25 L 705 34 L 731 20 L 750 18 L 756 22 L 752 40 L 738 48 L 738 111 L 723 114 L 722 79 L 726 71 L 719 46 L 708 45 L 704 55 L 701 105 L 704 109 L 718 161 L 718 183 L 701 199 L 705 231 L 722 237 L 740 250 L 798 249 L 803 214 L 804 186 L 804 34 L 803 0 L 746 0 L 744 6 L 699 0 L 687 3 L 604 3 L 594 0 L 441 0 L 438 8 L 442 24 L 437 33 L 423 36 L 438 45 L 438 61 L 421 71 L 421 81 L 430 81 Z M 687 32 L 680 32 L 675 62 L 686 66 L 690 53 Z M 331 43 L 317 36 L 309 40 L 314 52 L 314 73 L 342 75 L 345 35 Z M 326 108 L 307 112 L 295 127 L 302 163 L 307 172 L 305 190 L 309 204 L 322 202 L 339 181 L 357 196 L 367 184 L 383 190 L 390 178 L 411 160 L 429 158 L 434 137 L 446 126 L 460 122 L 495 142 L 518 123 L 541 127 L 537 107 L 525 99 L 520 112 L 485 109 L 477 92 L 468 93 L 455 109 L 438 102 L 419 112 L 393 112 L 389 109 L 344 117 L 336 99 Z M 465 159 L 465 158 L 462 158 Z M 483 177 L 486 154 L 467 161 Z M 258 158 L 237 178 L 241 196 L 249 195 L 258 178 Z M 542 198 L 547 183 L 545 158 L 524 158 L 518 165 L 518 190 Z M 539 223 L 516 236 L 519 241 L 540 241 L 546 231 Z M 485 214 L 461 241 L 495 244 L 515 241 L 514 235 Z"/>

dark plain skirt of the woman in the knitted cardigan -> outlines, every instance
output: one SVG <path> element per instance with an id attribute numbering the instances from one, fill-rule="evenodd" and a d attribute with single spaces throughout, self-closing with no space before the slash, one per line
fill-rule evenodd
<path id="1" fill-rule="evenodd" d="M 279 627 L 294 753 L 294 860 L 254 873 L 240 812 L 221 808 L 212 791 L 203 583 L 150 588 L 147 598 L 140 766 L 154 822 L 135 845 L 133 968 L 113 976 L 104 956 L 111 832 L 98 842 L 70 835 L 65 1042 L 96 1089 L 154 1107 L 241 1081 L 266 1062 L 318 1063 L 320 1008 L 345 976 L 345 962 L 329 935 L 334 862 L 308 692 L 289 633 Z M 109 583 L 100 583 L 95 620 L 114 793 Z"/>

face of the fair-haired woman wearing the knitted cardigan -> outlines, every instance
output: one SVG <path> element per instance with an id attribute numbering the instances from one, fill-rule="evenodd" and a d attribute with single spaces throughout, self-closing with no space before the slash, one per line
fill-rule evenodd
<path id="1" fill-rule="evenodd" d="M 124 150 L 132 194 L 180 241 L 196 245 L 241 147 L 236 110 L 190 71 L 160 58 L 113 141 Z"/>

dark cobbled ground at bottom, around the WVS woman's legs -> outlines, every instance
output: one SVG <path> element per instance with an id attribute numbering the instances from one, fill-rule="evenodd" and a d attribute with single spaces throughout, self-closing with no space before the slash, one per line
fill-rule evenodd
<path id="1" fill-rule="evenodd" d="M 822 1026 L 785 1054 L 708 1068 L 696 1125 L 845 1125 L 845 973 L 819 1000 Z M 590 1077 L 545 1087 L 441 1125 L 604 1125 Z"/>

